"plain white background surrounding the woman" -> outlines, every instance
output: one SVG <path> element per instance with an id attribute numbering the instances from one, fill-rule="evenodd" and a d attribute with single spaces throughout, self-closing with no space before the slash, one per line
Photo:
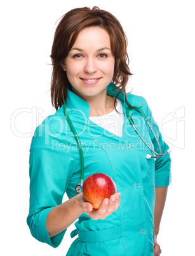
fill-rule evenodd
<path id="1" fill-rule="evenodd" d="M 73 241 L 74 225 L 56 249 L 30 235 L 29 148 L 36 126 L 55 113 L 50 100 L 55 22 L 72 8 L 95 5 L 121 22 L 135 73 L 128 88 L 145 97 L 172 150 L 172 183 L 158 236 L 161 255 L 192 255 L 195 20 L 189 0 L 18 0 L 1 5 L 0 253 L 62 256 Z"/>

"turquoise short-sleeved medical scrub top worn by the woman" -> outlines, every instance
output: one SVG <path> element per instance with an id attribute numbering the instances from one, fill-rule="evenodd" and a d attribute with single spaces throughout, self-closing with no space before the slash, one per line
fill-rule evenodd
<path id="1" fill-rule="evenodd" d="M 110 83 L 107 94 L 116 97 L 119 89 Z M 94 173 L 105 173 L 115 181 L 121 192 L 118 210 L 105 220 L 93 220 L 83 213 L 76 222 L 76 230 L 68 256 L 81 255 L 154 255 L 154 203 L 155 187 L 167 187 L 171 183 L 170 155 L 147 159 L 154 155 L 137 135 L 126 117 L 124 92 L 119 94 L 124 113 L 123 137 L 116 136 L 90 121 L 90 106 L 67 89 L 67 111 L 83 146 L 84 179 Z M 152 117 L 145 99 L 127 94 L 131 106 L 141 110 L 159 140 L 161 151 L 168 150 L 158 125 Z M 158 144 L 145 124 L 144 117 L 130 110 L 142 137 L 156 151 Z M 64 232 L 50 239 L 46 230 L 46 218 L 52 208 L 62 203 L 64 193 L 76 196 L 75 187 L 81 177 L 81 159 L 74 134 L 67 123 L 63 106 L 55 115 L 39 125 L 30 146 L 30 209 L 27 224 L 37 240 L 53 247 L 60 245 Z"/>

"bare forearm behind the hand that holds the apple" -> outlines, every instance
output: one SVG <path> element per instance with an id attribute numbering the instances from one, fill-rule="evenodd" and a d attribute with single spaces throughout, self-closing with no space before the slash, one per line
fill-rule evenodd
<path id="1" fill-rule="evenodd" d="M 46 229 L 50 238 L 64 231 L 83 213 L 79 206 L 79 196 L 72 197 L 64 203 L 53 208 L 46 219 Z"/>

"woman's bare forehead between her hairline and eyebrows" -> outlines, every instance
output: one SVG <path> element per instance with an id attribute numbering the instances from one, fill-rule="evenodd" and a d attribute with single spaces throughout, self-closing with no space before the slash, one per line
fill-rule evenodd
<path id="1" fill-rule="evenodd" d="M 100 45 L 102 47 L 111 47 L 109 33 L 105 29 L 102 29 L 102 27 L 86 27 L 82 29 L 73 46 L 83 46 L 86 48 L 89 45 L 94 47 L 99 47 Z"/>

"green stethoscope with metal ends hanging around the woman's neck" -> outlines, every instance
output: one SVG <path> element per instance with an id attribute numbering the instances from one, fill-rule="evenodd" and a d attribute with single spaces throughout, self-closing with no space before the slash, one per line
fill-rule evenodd
<path id="1" fill-rule="evenodd" d="M 154 134 L 154 131 L 153 131 L 153 129 L 152 129 L 152 125 L 150 124 L 148 118 L 146 117 L 146 115 L 144 114 L 144 112 L 143 112 L 142 110 L 140 110 L 140 108 L 133 108 L 133 110 L 136 110 L 138 113 L 140 113 L 141 115 L 143 115 L 144 118 L 145 118 L 145 120 L 147 121 L 147 124 L 149 125 L 149 127 L 150 127 L 152 133 L 154 134 L 154 138 L 156 139 L 156 141 L 157 141 L 157 143 L 158 143 L 159 153 L 155 152 L 155 151 L 151 148 L 151 146 L 149 146 L 149 145 L 147 144 L 147 142 L 146 142 L 145 139 L 142 137 L 142 135 L 137 131 L 137 128 L 136 128 L 135 125 L 134 125 L 133 119 L 132 119 L 132 117 L 130 117 L 130 114 L 129 114 L 129 111 L 130 111 L 130 110 L 131 110 L 130 107 L 126 108 L 126 117 L 128 118 L 128 121 L 129 121 L 130 124 L 133 126 L 133 129 L 137 132 L 138 136 L 140 136 L 140 138 L 142 139 L 142 141 L 144 141 L 145 145 L 146 145 L 150 150 L 152 150 L 152 152 L 154 152 L 154 154 L 156 155 L 156 156 L 154 156 L 154 155 L 149 155 L 149 154 L 147 154 L 147 155 L 146 155 L 146 158 L 147 158 L 147 159 L 151 159 L 151 158 L 156 159 L 156 158 L 158 158 L 158 157 L 161 157 L 161 156 L 163 156 L 163 155 L 166 155 L 167 153 L 171 153 L 171 150 L 170 150 L 170 149 L 168 149 L 168 150 L 167 150 L 165 153 L 163 153 L 163 154 L 161 153 L 161 146 L 159 145 L 159 141 L 158 141 L 158 139 L 156 138 L 156 135 Z M 83 179 L 84 179 L 83 148 L 82 148 L 82 146 L 81 146 L 81 141 L 80 141 L 80 139 L 79 139 L 79 136 L 78 136 L 76 130 L 74 129 L 74 125 L 72 124 L 72 121 L 71 121 L 71 119 L 69 118 L 69 115 L 68 115 L 68 113 L 67 113 L 66 101 L 64 102 L 64 115 L 65 115 L 65 118 L 67 119 L 68 124 L 69 124 L 70 127 L 71 127 L 71 130 L 72 130 L 72 132 L 73 132 L 75 138 L 76 138 L 77 145 L 78 145 L 78 147 L 79 147 L 80 156 L 81 156 L 81 182 L 79 182 L 79 183 L 76 185 L 76 187 L 75 187 L 75 191 L 77 192 L 77 194 L 79 194 L 79 193 L 82 192 Z"/>

